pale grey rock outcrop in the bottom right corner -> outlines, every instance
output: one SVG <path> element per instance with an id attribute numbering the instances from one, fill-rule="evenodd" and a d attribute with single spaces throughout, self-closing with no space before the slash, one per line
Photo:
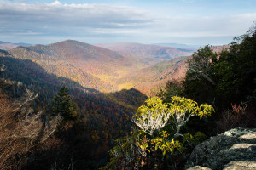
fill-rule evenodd
<path id="1" fill-rule="evenodd" d="M 198 144 L 189 170 L 256 170 L 256 128 L 234 128 Z"/>

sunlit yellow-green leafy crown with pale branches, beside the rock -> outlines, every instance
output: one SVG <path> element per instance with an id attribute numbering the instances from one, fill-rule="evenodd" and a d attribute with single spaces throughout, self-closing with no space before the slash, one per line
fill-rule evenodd
<path id="1" fill-rule="evenodd" d="M 172 97 L 172 102 L 165 104 L 160 98 L 150 98 L 146 100 L 146 105 L 138 108 L 137 113 L 133 116 L 133 122 L 140 127 L 143 132 L 150 134 L 160 132 L 160 129 L 165 127 L 172 118 L 177 129 L 176 136 L 180 135 L 180 127 L 185 122 L 189 121 L 191 116 L 211 116 L 214 111 L 212 105 L 198 105 L 191 99 L 181 98 L 178 96 Z"/>

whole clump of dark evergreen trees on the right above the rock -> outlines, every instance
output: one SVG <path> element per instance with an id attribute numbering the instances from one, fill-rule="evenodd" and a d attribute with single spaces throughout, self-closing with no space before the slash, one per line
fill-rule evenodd
<path id="1" fill-rule="evenodd" d="M 210 46 L 201 48 L 188 61 L 183 93 L 199 103 L 218 108 L 255 100 L 256 26 L 235 37 L 220 54 Z"/>

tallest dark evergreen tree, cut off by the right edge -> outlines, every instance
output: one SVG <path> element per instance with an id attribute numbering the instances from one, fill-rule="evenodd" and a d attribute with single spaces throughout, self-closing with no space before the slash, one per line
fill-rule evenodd
<path id="1" fill-rule="evenodd" d="M 221 104 L 255 99 L 256 25 L 245 35 L 234 38 L 230 51 L 220 54 L 214 72 L 218 79 L 216 94 Z"/>

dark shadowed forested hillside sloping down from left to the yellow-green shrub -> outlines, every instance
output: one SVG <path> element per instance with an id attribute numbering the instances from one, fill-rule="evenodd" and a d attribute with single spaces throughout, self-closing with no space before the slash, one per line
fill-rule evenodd
<path id="1" fill-rule="evenodd" d="M 25 84 L 39 94 L 33 108 L 43 109 L 49 114 L 52 99 L 65 85 L 70 89 L 83 117 L 83 124 L 57 136 L 61 139 L 61 145 L 36 151 L 29 158 L 26 169 L 50 169 L 56 162 L 62 166 L 59 168 L 66 169 L 71 158 L 75 161 L 75 169 L 102 167 L 108 161 L 108 150 L 113 147 L 113 140 L 131 130 L 132 113 L 147 99 L 147 96 L 133 88 L 110 94 L 84 88 L 78 82 L 49 74 L 31 60 L 12 58 L 6 51 L 0 51 L 0 65 L 2 64 L 6 65 L 6 70 L 0 74 L 0 78 L 21 82 L 20 86 Z M 19 83 L 15 87 L 19 87 Z M 19 91 L 19 88 L 11 90 Z"/>

